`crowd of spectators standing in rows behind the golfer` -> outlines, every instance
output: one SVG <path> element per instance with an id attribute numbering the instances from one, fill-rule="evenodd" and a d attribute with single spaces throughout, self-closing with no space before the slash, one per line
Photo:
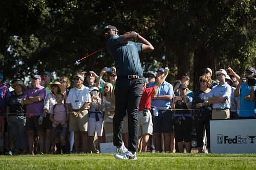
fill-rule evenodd
<path id="1" fill-rule="evenodd" d="M 210 119 L 255 118 L 255 68 L 240 76 L 231 67 L 204 68 L 195 91 L 189 74 L 172 84 L 165 81 L 168 71 L 159 68 L 144 79 L 138 152 L 188 153 L 193 126 L 198 152 L 210 152 Z M 33 75 L 29 86 L 15 79 L 11 91 L 0 74 L 0 154 L 99 153 L 99 143 L 113 141 L 116 68 L 104 67 L 99 76 L 83 71 L 72 82 L 52 78 L 49 71 Z"/>

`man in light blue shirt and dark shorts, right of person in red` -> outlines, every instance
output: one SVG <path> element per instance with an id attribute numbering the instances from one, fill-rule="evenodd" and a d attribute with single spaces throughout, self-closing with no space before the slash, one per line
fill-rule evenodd
<path id="1" fill-rule="evenodd" d="M 164 76 L 164 69 L 159 68 L 157 71 L 156 82 L 150 87 L 155 86 Z M 158 87 L 156 98 L 151 98 L 151 105 L 154 107 L 154 145 L 156 152 L 160 152 L 160 137 L 164 135 L 164 151 L 166 153 L 175 152 L 175 137 L 172 125 L 173 113 L 170 110 L 174 97 L 173 85 L 163 81 Z"/>

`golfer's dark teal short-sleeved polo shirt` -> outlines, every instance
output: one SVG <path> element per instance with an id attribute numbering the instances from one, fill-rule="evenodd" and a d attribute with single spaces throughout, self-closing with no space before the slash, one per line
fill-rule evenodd
<path id="1" fill-rule="evenodd" d="M 143 75 L 139 53 L 142 51 L 142 43 L 127 41 L 120 43 L 121 36 L 110 37 L 106 41 L 106 47 L 113 57 L 118 76 Z"/>

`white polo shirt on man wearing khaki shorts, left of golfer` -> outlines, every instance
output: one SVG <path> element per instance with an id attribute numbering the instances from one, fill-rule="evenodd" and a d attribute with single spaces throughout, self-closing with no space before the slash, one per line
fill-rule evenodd
<path id="1" fill-rule="evenodd" d="M 70 89 L 66 103 L 71 104 L 72 109 L 80 109 L 83 104 L 87 102 L 92 102 L 90 90 L 87 87 L 82 85 L 80 89 L 77 89 L 76 87 Z M 87 109 L 89 108 L 90 106 L 88 106 Z"/>

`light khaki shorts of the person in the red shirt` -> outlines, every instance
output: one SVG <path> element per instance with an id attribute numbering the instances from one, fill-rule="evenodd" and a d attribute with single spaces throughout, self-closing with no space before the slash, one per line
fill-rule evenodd
<path id="1" fill-rule="evenodd" d="M 153 133 L 152 115 L 150 110 L 147 110 L 146 116 L 143 115 L 143 110 L 138 112 L 138 136 L 143 134 Z"/>

